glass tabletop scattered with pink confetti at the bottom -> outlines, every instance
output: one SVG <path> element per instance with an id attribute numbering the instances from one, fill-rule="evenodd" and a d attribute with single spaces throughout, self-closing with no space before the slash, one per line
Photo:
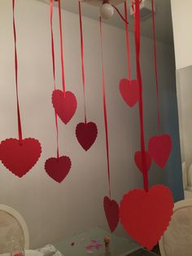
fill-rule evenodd
<path id="1" fill-rule="evenodd" d="M 110 251 L 105 252 L 104 237 L 110 237 Z M 64 238 L 55 242 L 55 247 L 63 256 L 153 256 L 151 252 L 142 249 L 131 238 L 122 238 L 95 227 L 81 234 Z"/>

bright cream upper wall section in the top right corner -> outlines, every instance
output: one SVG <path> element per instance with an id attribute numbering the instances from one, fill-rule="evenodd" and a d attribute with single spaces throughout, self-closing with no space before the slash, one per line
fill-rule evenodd
<path id="1" fill-rule="evenodd" d="M 176 68 L 192 64 L 192 1 L 171 0 Z"/>

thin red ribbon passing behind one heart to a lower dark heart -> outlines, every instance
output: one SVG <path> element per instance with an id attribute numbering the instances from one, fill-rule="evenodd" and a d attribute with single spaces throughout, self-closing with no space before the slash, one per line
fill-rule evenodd
<path id="1" fill-rule="evenodd" d="M 52 63 L 53 63 L 53 77 L 54 77 L 54 90 L 55 86 L 55 44 L 54 44 L 54 32 L 53 32 L 53 0 L 50 0 L 50 34 L 51 34 L 51 51 L 52 51 Z M 56 126 L 56 138 L 57 138 L 57 158 L 59 158 L 59 128 L 58 119 L 55 112 L 55 126 Z"/>

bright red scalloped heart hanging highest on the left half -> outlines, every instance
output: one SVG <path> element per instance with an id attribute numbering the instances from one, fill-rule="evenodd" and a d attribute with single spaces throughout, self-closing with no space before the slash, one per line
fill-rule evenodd
<path id="1" fill-rule="evenodd" d="M 66 125 L 76 113 L 76 96 L 71 91 L 54 90 L 52 94 L 52 104 L 59 118 Z"/>

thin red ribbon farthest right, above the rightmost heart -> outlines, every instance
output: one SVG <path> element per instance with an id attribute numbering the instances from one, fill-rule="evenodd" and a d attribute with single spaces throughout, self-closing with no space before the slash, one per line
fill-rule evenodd
<path id="1" fill-rule="evenodd" d="M 156 50 L 156 40 L 155 40 L 155 11 L 154 11 L 154 1 L 151 0 L 152 7 L 152 20 L 153 20 L 153 42 L 154 42 L 154 57 L 155 57 L 155 82 L 156 82 L 156 96 L 157 96 L 157 108 L 158 108 L 158 129 L 160 130 L 160 106 L 159 106 L 159 82 L 158 82 L 158 72 L 157 72 L 157 50 Z"/>

